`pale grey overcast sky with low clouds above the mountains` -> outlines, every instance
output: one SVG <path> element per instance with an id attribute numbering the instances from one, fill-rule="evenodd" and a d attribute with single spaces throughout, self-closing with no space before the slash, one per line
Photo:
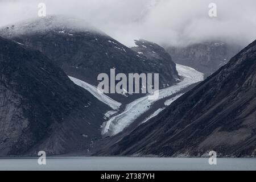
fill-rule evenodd
<path id="1" fill-rule="evenodd" d="M 256 39 L 255 0 L 0 0 L 0 26 L 47 15 L 85 19 L 113 38 L 131 46 L 133 39 L 186 45 L 210 40 L 245 46 Z M 216 3 L 217 17 L 208 15 Z"/>

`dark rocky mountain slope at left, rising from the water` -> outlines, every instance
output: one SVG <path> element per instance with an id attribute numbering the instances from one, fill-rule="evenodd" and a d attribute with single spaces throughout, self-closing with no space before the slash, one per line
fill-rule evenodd
<path id="1" fill-rule="evenodd" d="M 1 156 L 86 150 L 108 109 L 39 51 L 0 38 Z"/>

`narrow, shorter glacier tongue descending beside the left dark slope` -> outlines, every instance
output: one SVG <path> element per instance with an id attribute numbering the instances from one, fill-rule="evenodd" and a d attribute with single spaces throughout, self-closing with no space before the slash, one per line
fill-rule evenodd
<path id="1" fill-rule="evenodd" d="M 91 94 L 93 94 L 94 97 L 96 97 L 101 102 L 104 102 L 106 105 L 109 105 L 112 109 L 118 110 L 119 107 L 122 105 L 120 102 L 117 102 L 113 100 L 112 98 L 106 96 L 104 93 L 99 93 L 96 86 L 90 85 L 82 80 L 79 80 L 77 78 L 68 76 L 69 79 L 71 79 L 76 85 L 81 86 Z"/>

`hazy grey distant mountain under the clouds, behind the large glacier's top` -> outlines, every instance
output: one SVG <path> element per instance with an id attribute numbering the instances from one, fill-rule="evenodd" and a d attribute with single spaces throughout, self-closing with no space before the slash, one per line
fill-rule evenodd
<path id="1" fill-rule="evenodd" d="M 209 76 L 241 51 L 241 46 L 223 42 L 206 42 L 187 47 L 166 47 L 177 64 L 187 65 Z"/>

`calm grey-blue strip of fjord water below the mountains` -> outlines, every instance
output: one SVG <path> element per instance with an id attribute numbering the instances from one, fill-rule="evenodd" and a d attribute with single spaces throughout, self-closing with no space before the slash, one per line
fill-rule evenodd
<path id="1" fill-rule="evenodd" d="M 217 158 L 216 165 L 208 158 L 63 157 L 47 158 L 46 165 L 37 158 L 0 158 L 0 170 L 256 170 L 256 158 Z"/>

